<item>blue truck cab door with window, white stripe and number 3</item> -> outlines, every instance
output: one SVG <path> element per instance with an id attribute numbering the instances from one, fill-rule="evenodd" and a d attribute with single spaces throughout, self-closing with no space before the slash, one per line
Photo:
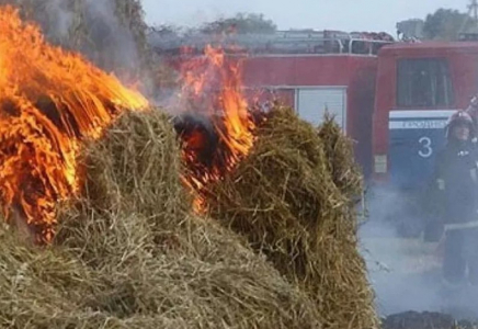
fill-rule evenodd
<path id="1" fill-rule="evenodd" d="M 395 188 L 417 190 L 429 182 L 446 121 L 456 111 L 447 60 L 399 59 L 396 100 L 389 112 L 389 177 Z"/>

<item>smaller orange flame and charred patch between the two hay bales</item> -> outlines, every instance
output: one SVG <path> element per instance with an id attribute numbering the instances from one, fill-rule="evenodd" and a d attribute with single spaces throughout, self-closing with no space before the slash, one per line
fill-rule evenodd
<path id="1" fill-rule="evenodd" d="M 207 46 L 204 57 L 182 64 L 181 73 L 182 97 L 193 107 L 190 112 L 212 125 L 212 129 L 203 125 L 202 131 L 193 127 L 182 134 L 183 158 L 190 169 L 184 181 L 197 192 L 195 211 L 204 212 L 207 186 L 249 154 L 257 121 L 242 91 L 241 63 L 227 59 L 221 48 Z"/>

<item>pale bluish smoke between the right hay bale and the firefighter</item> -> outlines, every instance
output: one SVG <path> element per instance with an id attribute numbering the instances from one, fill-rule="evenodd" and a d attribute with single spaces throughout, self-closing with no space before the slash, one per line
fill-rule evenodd
<path id="1" fill-rule="evenodd" d="M 384 317 L 414 310 L 478 317 L 478 288 L 451 287 L 442 281 L 443 239 L 423 240 L 425 218 L 409 212 L 409 198 L 396 191 L 375 191 L 367 201 L 368 220 L 360 228 L 361 252 Z M 413 226 L 413 224 L 416 224 Z M 403 230 L 403 225 L 411 229 Z M 411 237 L 403 237 L 405 232 Z M 420 234 L 413 237 L 413 234 Z"/>

